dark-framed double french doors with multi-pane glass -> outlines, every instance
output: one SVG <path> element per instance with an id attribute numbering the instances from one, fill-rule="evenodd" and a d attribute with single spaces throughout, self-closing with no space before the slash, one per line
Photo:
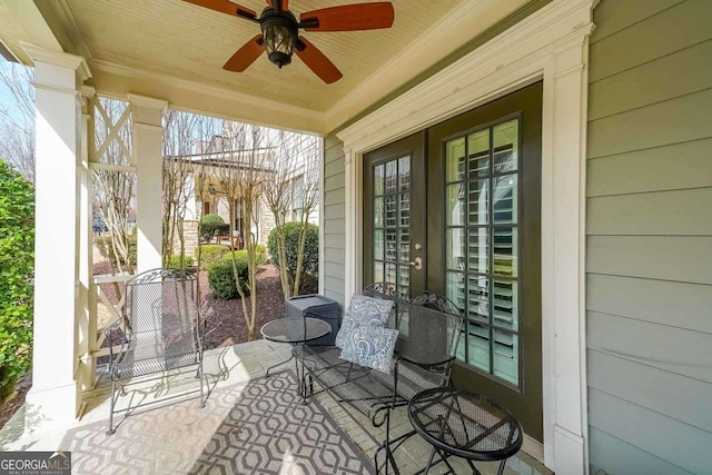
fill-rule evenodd
<path id="1" fill-rule="evenodd" d="M 503 404 L 538 441 L 541 127 L 535 83 L 367 154 L 363 208 L 364 284 L 459 306 L 454 384 Z"/>

